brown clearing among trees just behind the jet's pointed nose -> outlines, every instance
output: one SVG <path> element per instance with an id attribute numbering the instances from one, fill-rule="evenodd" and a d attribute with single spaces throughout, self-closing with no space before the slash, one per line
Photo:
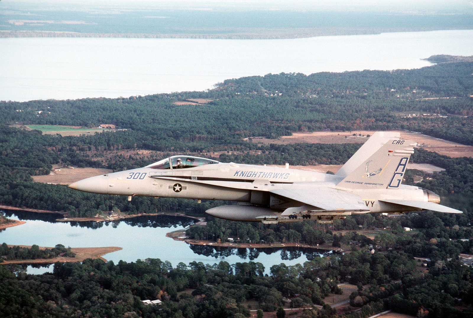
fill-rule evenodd
<path id="1" fill-rule="evenodd" d="M 55 171 L 54 169 L 61 169 Z M 95 177 L 100 174 L 111 173 L 109 169 L 99 168 L 63 168 L 58 164 L 53 164 L 53 170 L 48 175 L 34 175 L 35 182 L 53 183 L 53 184 L 71 184 L 76 181 Z"/>

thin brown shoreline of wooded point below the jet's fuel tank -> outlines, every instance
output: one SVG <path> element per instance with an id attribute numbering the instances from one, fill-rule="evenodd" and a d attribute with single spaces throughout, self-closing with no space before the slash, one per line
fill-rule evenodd
<path id="1" fill-rule="evenodd" d="M 273 244 L 262 244 L 262 243 L 217 243 L 206 240 L 195 240 L 187 238 L 185 236 L 185 230 L 177 230 L 173 232 L 166 233 L 166 237 L 170 237 L 175 241 L 182 241 L 191 245 L 209 245 L 216 247 L 233 247 L 233 248 L 283 248 L 283 247 L 303 247 L 303 248 L 314 248 L 319 250 L 327 250 L 333 252 L 343 252 L 347 253 L 348 250 L 343 250 L 339 247 L 327 246 L 327 245 L 307 245 L 307 244 L 298 244 L 298 243 L 273 243 Z"/>

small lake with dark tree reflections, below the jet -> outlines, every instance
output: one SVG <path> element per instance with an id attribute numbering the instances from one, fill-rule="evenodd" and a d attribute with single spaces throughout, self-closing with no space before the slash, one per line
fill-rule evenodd
<path id="1" fill-rule="evenodd" d="M 26 221 L 0 231 L 0 244 L 39 245 L 54 247 L 119 246 L 123 249 L 103 255 L 108 261 L 135 262 L 137 259 L 159 258 L 175 267 L 193 261 L 206 264 L 226 261 L 263 263 L 266 273 L 274 264 L 304 263 L 329 251 L 311 248 L 225 248 L 209 245 L 189 245 L 166 237 L 166 233 L 193 224 L 192 218 L 171 216 L 140 216 L 116 222 L 57 222 L 55 214 L 6 211 L 7 217 Z M 52 269 L 50 269 L 52 270 Z M 44 273 L 44 268 L 28 266 L 28 273 Z"/>

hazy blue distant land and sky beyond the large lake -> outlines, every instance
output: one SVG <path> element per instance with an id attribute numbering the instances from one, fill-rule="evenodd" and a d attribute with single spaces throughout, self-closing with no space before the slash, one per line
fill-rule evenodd
<path id="1" fill-rule="evenodd" d="M 293 38 L 473 29 L 472 3 L 471 0 L 382 3 L 299 0 L 290 4 L 281 0 L 49 0 L 41 3 L 1 0 L 0 37 L 52 36 L 48 32 L 60 32 L 75 33 L 75 36 L 96 33 Z"/>

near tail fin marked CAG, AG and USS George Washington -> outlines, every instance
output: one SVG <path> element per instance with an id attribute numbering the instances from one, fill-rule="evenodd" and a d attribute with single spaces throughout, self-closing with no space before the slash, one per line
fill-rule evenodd
<path id="1" fill-rule="evenodd" d="M 389 140 L 362 164 L 358 164 L 337 186 L 349 189 L 399 188 L 409 158 L 414 153 L 414 145 L 410 140 Z"/>

